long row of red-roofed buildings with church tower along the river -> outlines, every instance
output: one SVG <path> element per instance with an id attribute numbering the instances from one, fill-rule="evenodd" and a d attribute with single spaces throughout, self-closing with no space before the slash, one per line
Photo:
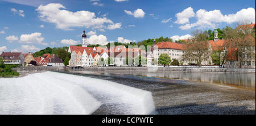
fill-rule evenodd
<path id="1" fill-rule="evenodd" d="M 254 26 L 251 24 L 250 26 Z M 186 41 L 186 40 L 185 40 Z M 208 41 L 209 51 L 216 51 L 222 49 L 222 52 L 226 51 L 226 62 L 225 67 L 228 68 L 238 68 L 238 59 L 234 56 L 234 51 L 232 49 L 225 48 L 225 41 L 218 39 L 217 30 L 214 31 L 214 40 Z M 184 45 L 180 43 L 172 43 L 169 41 L 162 41 L 155 43 L 151 47 L 151 51 L 143 51 L 140 48 L 126 48 L 123 45 L 117 47 L 87 47 L 86 45 L 86 35 L 85 31 L 82 35 L 82 47 L 69 46 L 69 52 L 71 53 L 71 60 L 69 61 L 69 66 L 71 67 L 92 67 L 99 66 L 98 61 L 102 58 L 107 60 L 109 57 L 113 59 L 113 64 L 115 66 L 126 66 L 124 62 L 126 57 L 131 57 L 135 60 L 139 55 L 146 58 L 147 62 L 144 66 L 152 66 L 153 60 L 158 60 L 159 56 L 163 53 L 168 54 L 172 60 L 176 59 L 182 62 L 183 65 L 196 64 L 195 58 L 184 58 Z M 255 47 L 254 52 L 255 54 Z M 214 65 L 212 57 L 203 59 L 202 65 Z M 255 57 L 246 58 L 243 61 L 242 68 L 255 68 Z"/>

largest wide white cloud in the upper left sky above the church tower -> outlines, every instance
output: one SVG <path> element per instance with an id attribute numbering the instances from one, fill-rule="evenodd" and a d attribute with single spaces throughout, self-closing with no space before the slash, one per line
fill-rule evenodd
<path id="1" fill-rule="evenodd" d="M 59 3 L 49 3 L 45 6 L 40 5 L 36 11 L 40 14 L 40 20 L 55 23 L 56 28 L 61 30 L 72 30 L 71 27 L 92 27 L 101 29 L 105 27 L 105 23 L 114 24 L 112 20 L 106 17 L 96 17 L 94 12 L 72 12 L 65 10 L 65 7 Z"/>

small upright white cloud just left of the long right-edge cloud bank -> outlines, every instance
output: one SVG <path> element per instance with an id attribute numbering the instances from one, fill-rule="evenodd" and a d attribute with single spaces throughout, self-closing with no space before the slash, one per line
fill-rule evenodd
<path id="1" fill-rule="evenodd" d="M 184 24 L 189 23 L 189 18 L 195 16 L 195 12 L 193 11 L 192 7 L 188 7 L 184 9 L 182 12 L 176 14 L 177 20 L 175 23 L 177 24 Z"/>

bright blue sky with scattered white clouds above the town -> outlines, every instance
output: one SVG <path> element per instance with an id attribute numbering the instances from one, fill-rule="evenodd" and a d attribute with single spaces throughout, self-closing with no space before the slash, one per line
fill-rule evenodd
<path id="1" fill-rule="evenodd" d="M 0 0 L 0 52 L 125 43 L 255 23 L 255 1 Z"/>

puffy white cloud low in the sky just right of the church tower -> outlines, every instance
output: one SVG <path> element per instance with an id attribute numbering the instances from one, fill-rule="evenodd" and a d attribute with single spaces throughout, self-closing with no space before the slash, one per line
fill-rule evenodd
<path id="1" fill-rule="evenodd" d="M 101 45 L 105 45 L 108 43 L 108 39 L 106 36 L 104 35 L 92 35 L 89 37 L 89 39 L 87 39 L 88 44 L 101 44 Z"/>

